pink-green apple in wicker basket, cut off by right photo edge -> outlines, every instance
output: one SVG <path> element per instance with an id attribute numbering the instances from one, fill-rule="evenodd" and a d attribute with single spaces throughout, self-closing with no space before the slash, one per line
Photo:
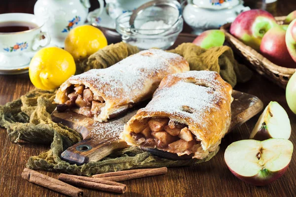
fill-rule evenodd
<path id="1" fill-rule="evenodd" d="M 296 62 L 296 19 L 290 23 L 287 29 L 286 44 L 292 59 Z"/>

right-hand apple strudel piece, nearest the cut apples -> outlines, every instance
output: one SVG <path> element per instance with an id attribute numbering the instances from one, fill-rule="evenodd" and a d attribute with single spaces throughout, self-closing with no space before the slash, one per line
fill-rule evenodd
<path id="1" fill-rule="evenodd" d="M 203 159 L 228 131 L 231 93 L 217 72 L 168 75 L 148 105 L 127 122 L 121 138 L 132 146 Z"/>

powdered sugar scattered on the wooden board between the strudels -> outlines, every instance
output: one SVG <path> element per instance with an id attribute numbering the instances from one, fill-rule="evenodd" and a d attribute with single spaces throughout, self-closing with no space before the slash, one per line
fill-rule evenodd
<path id="1" fill-rule="evenodd" d="M 137 111 L 128 113 L 114 121 L 110 122 L 95 122 L 93 123 L 93 130 L 89 132 L 89 136 L 96 140 L 106 140 L 105 142 L 117 141 L 119 140 L 119 134 L 123 131 L 124 125 L 131 119 Z"/>

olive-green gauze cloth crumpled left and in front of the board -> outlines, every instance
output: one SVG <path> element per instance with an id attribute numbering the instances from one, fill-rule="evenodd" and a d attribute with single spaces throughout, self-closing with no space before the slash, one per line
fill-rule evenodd
<path id="1" fill-rule="evenodd" d="M 7 129 L 12 142 L 20 139 L 50 144 L 50 150 L 29 158 L 26 166 L 31 169 L 86 175 L 106 173 L 132 168 L 174 167 L 209 161 L 219 149 L 203 159 L 174 161 L 156 157 L 137 147 L 118 151 L 98 162 L 76 165 L 63 161 L 61 153 L 82 139 L 79 133 L 54 123 L 50 114 L 55 105 L 55 91 L 34 90 L 12 102 L 0 106 L 0 126 Z"/>

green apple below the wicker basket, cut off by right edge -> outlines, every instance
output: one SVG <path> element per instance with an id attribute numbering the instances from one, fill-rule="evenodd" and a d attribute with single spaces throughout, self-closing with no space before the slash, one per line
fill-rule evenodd
<path id="1" fill-rule="evenodd" d="M 290 109 L 296 114 L 296 72 L 287 84 L 286 99 Z"/>

